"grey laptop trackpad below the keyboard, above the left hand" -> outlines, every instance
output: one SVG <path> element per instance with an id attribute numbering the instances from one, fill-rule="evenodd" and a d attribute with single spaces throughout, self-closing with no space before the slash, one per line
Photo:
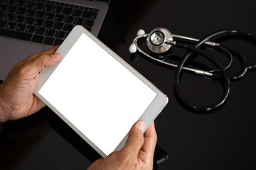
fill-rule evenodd
<path id="1" fill-rule="evenodd" d="M 12 67 L 29 55 L 42 52 L 44 45 L 0 38 L 0 79 L 6 79 Z"/>

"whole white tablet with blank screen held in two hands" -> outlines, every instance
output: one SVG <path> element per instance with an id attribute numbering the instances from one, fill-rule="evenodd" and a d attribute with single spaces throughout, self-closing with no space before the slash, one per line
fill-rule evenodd
<path id="1" fill-rule="evenodd" d="M 137 120 L 146 127 L 168 98 L 81 26 L 60 45 L 58 64 L 39 74 L 34 93 L 102 157 L 122 149 Z"/>

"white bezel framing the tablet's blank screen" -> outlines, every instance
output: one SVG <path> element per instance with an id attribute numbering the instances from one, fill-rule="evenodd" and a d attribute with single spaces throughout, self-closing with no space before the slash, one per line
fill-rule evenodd
<path id="1" fill-rule="evenodd" d="M 105 44 L 103 44 L 94 35 L 92 35 L 92 33 L 90 33 L 88 30 L 86 30 L 82 26 L 75 26 L 75 28 L 73 28 L 73 30 L 70 32 L 68 37 L 65 38 L 62 45 L 60 45 L 60 47 L 56 51 L 56 53 L 60 53 L 62 56 L 60 62 L 65 58 L 65 55 L 68 54 L 68 52 L 73 47 L 73 45 L 78 40 L 78 38 L 80 38 L 82 33 L 85 33 L 85 35 L 87 35 L 88 38 L 90 38 L 91 40 L 96 42 L 97 45 L 102 47 L 107 53 L 109 53 L 112 57 L 114 57 L 115 60 L 117 60 L 120 64 L 122 64 L 124 67 L 126 67 L 129 70 L 129 72 L 132 72 L 132 74 L 134 74 L 138 79 L 140 79 L 142 82 L 144 82 L 144 84 L 149 86 L 149 88 L 152 89 L 156 93 L 156 97 L 154 98 L 154 100 L 151 102 L 149 107 L 146 108 L 146 111 L 139 118 L 139 120 L 143 120 L 144 123 L 146 123 L 146 129 L 147 129 L 149 127 L 149 125 L 151 125 L 151 123 L 157 117 L 157 115 L 159 115 L 159 113 L 162 111 L 164 106 L 166 106 L 166 104 L 168 103 L 168 97 L 163 92 L 161 92 L 159 89 L 157 89 L 156 86 L 154 86 L 154 84 L 151 84 L 151 82 L 149 80 L 147 80 L 145 77 L 143 77 L 142 74 L 139 74 L 139 72 L 137 72 L 137 70 L 135 70 L 133 67 L 131 67 L 127 62 L 125 62 L 121 57 L 119 57 L 116 53 L 114 53 L 112 50 L 110 50 L 109 47 L 107 47 Z M 58 62 L 58 64 L 55 64 L 53 67 L 47 67 L 46 69 L 43 70 L 43 72 L 41 72 L 41 74 L 39 74 L 38 84 L 36 85 L 34 94 L 36 94 L 36 96 L 38 96 L 38 98 L 40 98 L 44 103 L 46 103 L 46 105 L 50 109 L 52 109 L 53 112 L 55 112 L 61 119 L 63 119 L 65 121 L 65 123 L 67 123 L 70 126 L 70 128 L 72 128 L 75 132 L 77 132 L 78 135 L 80 135 L 80 137 L 82 137 L 82 139 L 85 140 L 92 148 L 94 148 L 102 157 L 107 157 L 107 155 L 104 152 L 102 152 L 100 150 L 100 148 L 98 148 L 93 142 L 90 141 L 90 139 L 88 139 L 84 134 L 82 134 L 82 132 L 80 132 L 80 130 L 78 130 L 78 128 L 76 128 L 75 125 L 70 123 L 70 121 L 67 118 L 65 118 L 65 116 L 62 115 L 51 103 L 49 103 L 46 100 L 46 98 L 43 98 L 43 96 L 41 96 L 41 94 L 38 93 L 40 91 L 40 89 L 43 87 L 43 84 L 46 83 L 46 81 L 48 80 L 50 75 L 58 67 L 60 62 Z M 114 151 L 122 149 L 122 147 L 124 146 L 124 144 L 127 140 L 127 137 L 128 137 L 128 134 L 126 135 L 126 137 L 124 137 L 122 142 L 119 143 L 119 145 L 116 147 L 116 149 L 114 149 Z"/>

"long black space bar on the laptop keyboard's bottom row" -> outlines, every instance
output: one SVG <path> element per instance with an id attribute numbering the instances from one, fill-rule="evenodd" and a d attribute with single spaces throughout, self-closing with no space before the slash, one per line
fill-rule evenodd
<path id="1" fill-rule="evenodd" d="M 5 28 L 0 28 L 0 35 L 6 36 L 9 38 L 16 38 L 18 40 L 31 40 L 32 34 L 31 33 L 23 33 L 18 32 L 16 30 L 7 30 Z"/>

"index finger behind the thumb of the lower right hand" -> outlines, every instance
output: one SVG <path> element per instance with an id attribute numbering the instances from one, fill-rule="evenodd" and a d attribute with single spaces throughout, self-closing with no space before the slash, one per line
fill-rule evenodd
<path id="1" fill-rule="evenodd" d="M 144 157 L 150 157 L 151 159 L 153 159 L 154 150 L 156 148 L 156 141 L 157 141 L 157 135 L 156 135 L 156 129 L 153 122 L 144 133 L 144 145 L 142 146 L 142 150 L 141 150 L 141 152 L 144 152 L 144 153 L 140 155 Z"/>

